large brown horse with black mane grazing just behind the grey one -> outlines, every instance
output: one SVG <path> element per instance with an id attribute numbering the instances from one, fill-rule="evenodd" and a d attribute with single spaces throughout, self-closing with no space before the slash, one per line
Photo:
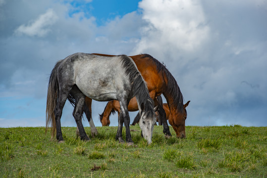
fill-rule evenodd
<path id="1" fill-rule="evenodd" d="M 97 54 L 103 56 L 113 56 L 107 54 Z M 171 126 L 174 129 L 176 136 L 179 138 L 185 137 L 185 119 L 187 117 L 186 107 L 188 106 L 188 101 L 186 104 L 183 104 L 183 95 L 180 91 L 179 86 L 177 85 L 176 80 L 167 70 L 167 68 L 162 65 L 157 59 L 152 57 L 149 54 L 139 54 L 135 56 L 130 56 L 135 62 L 139 72 L 145 79 L 147 87 L 150 92 L 150 97 L 154 100 L 155 105 L 158 105 L 156 96 L 163 94 L 166 98 L 166 101 L 169 106 L 169 117 L 168 119 L 173 121 L 170 122 Z M 90 102 L 90 98 L 86 98 L 87 102 Z M 92 101 L 92 100 L 91 100 Z M 116 106 L 119 112 L 118 101 L 112 101 L 114 106 Z M 135 98 L 130 100 L 128 108 L 131 110 L 138 110 L 138 106 L 135 104 Z M 129 109 L 129 110 L 130 110 Z M 162 106 L 159 105 L 159 113 L 162 118 L 165 118 L 165 112 Z M 163 119 L 163 133 L 166 136 L 171 136 L 169 132 L 169 127 L 166 119 Z"/>

